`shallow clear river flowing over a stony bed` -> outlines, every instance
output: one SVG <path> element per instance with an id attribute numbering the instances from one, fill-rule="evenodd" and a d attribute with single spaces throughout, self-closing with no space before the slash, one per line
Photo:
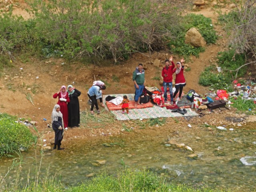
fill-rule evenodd
<path id="1" fill-rule="evenodd" d="M 167 125 L 166 125 L 167 126 Z M 255 128 L 255 124 L 247 128 Z M 205 127 L 177 127 L 176 131 L 158 131 L 155 135 L 130 134 L 129 137 L 85 143 L 79 140 L 65 150 L 44 152 L 41 174 L 61 174 L 64 184 L 76 185 L 89 175 L 106 171 L 116 174 L 122 170 L 121 158 L 130 168 L 148 168 L 164 173 L 168 181 L 193 186 L 208 185 L 231 191 L 253 191 L 256 183 L 256 132 L 208 131 Z M 246 130 L 246 128 L 239 127 Z M 167 144 L 168 139 L 190 146 L 198 158 L 189 158 L 190 151 Z M 104 146 L 103 144 L 110 145 Z M 112 145 L 115 144 L 115 145 Z M 66 147 L 63 145 L 63 147 Z M 35 152 L 23 153 L 21 177 L 26 180 L 30 168 L 35 167 Z M 33 158 L 29 158 L 33 157 Z M 37 161 L 40 154 L 37 154 Z M 97 160 L 106 160 L 100 165 Z M 11 165 L 10 158 L 2 158 L 0 172 L 5 174 Z M 16 177 L 11 171 L 8 180 Z M 33 176 L 32 176 L 33 177 Z"/>

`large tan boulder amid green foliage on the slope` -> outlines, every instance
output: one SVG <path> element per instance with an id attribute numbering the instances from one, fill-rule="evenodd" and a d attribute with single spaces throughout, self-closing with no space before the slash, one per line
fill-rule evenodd
<path id="1" fill-rule="evenodd" d="M 186 32 L 185 43 L 190 44 L 194 47 L 204 47 L 206 45 L 206 41 L 198 32 L 198 30 L 194 27 L 190 28 L 190 30 Z"/>

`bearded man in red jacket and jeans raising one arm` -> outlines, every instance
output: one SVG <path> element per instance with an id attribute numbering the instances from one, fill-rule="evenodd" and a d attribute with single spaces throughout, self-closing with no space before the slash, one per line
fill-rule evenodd
<path id="1" fill-rule="evenodd" d="M 170 62 L 172 66 L 170 66 Z M 165 60 L 165 67 L 162 70 L 162 77 L 164 78 L 163 87 L 164 87 L 164 101 L 167 101 L 167 86 L 170 90 L 171 104 L 173 103 L 172 96 L 172 70 L 174 69 L 175 64 L 172 61 L 172 56 L 170 56 L 169 60 Z"/>

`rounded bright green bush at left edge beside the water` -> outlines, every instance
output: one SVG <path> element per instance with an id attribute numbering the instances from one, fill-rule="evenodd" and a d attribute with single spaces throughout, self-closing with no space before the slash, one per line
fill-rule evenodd
<path id="1" fill-rule="evenodd" d="M 0 156 L 27 150 L 33 143 L 29 128 L 15 120 L 13 116 L 0 114 Z"/>

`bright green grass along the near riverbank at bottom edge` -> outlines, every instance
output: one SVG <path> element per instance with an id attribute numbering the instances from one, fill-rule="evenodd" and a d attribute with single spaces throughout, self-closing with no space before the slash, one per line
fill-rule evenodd
<path id="1" fill-rule="evenodd" d="M 3 182 L 4 183 L 4 182 Z M 2 192 L 222 192 L 207 187 L 195 188 L 188 185 L 175 185 L 166 181 L 164 175 L 148 170 L 120 171 L 117 176 L 99 174 L 77 186 L 65 186 L 56 178 L 43 178 L 41 182 L 28 182 L 22 187 L 19 182 L 11 185 L 0 184 Z"/>

